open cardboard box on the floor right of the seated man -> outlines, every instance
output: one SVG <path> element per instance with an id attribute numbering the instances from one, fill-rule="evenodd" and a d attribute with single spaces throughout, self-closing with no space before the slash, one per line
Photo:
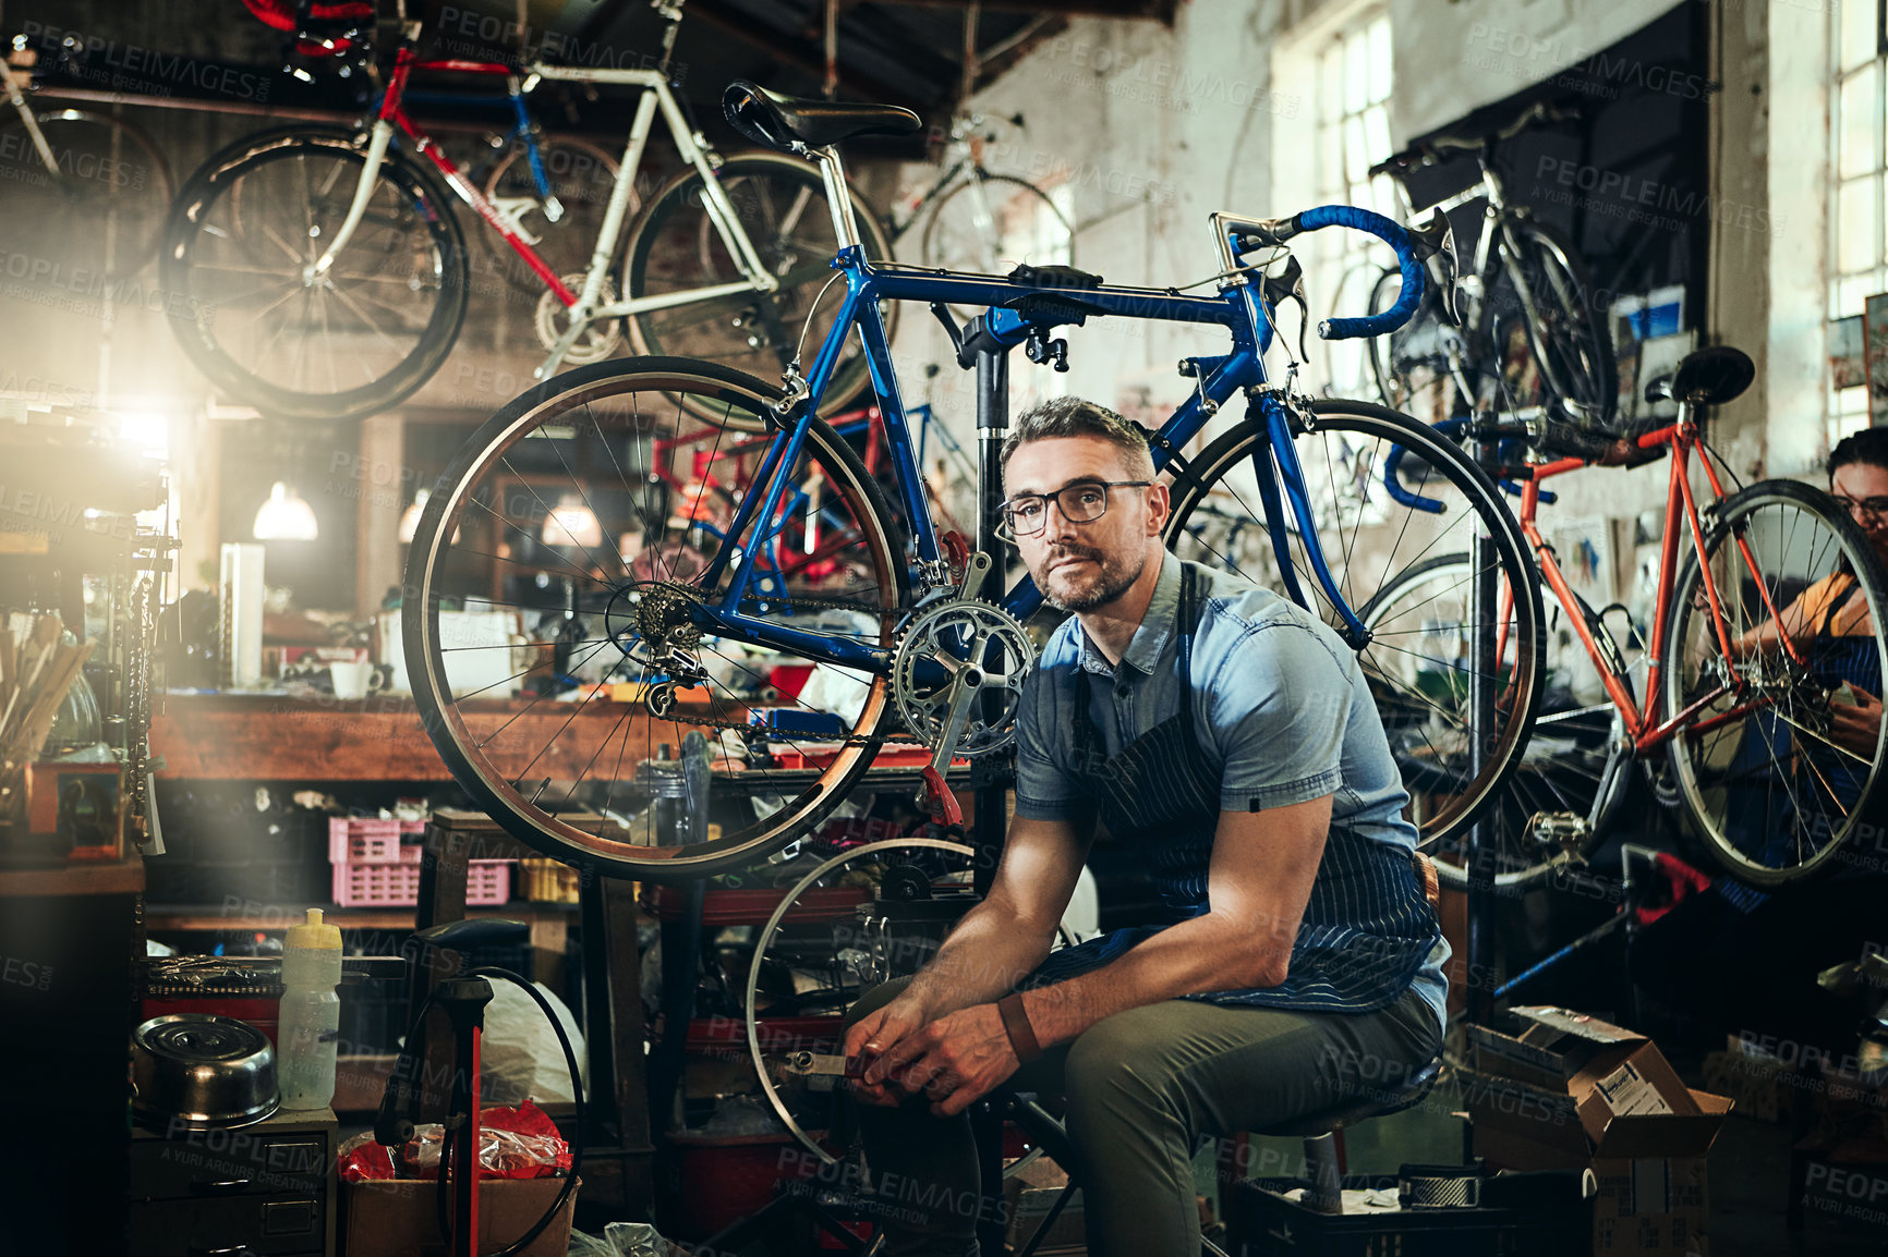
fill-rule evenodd
<path id="1" fill-rule="evenodd" d="M 1707 1257 L 1705 1153 L 1731 1112 L 1688 1089 L 1644 1036 L 1563 1008 L 1471 1029 L 1461 1070 L 1475 1149 L 1493 1168 L 1590 1166 L 1595 1257 Z"/>

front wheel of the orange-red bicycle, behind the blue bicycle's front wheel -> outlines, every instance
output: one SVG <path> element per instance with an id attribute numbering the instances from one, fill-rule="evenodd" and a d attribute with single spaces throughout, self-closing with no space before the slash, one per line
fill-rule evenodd
<path id="1" fill-rule="evenodd" d="M 1401 640 L 1414 651 L 1414 661 L 1467 659 L 1473 647 L 1471 589 L 1469 555 L 1437 555 L 1376 591 L 1357 619 L 1378 638 Z M 1495 593 L 1501 598 L 1507 589 Z M 1561 608 L 1544 583 L 1541 600 L 1550 621 L 1556 619 Z M 1580 610 L 1586 612 L 1584 604 Z M 1514 617 L 1505 623 L 1505 636 L 1512 642 L 1518 636 Z M 1610 644 L 1610 638 L 1603 642 Z M 1610 759 L 1624 736 L 1624 721 L 1599 689 L 1593 661 L 1569 627 L 1556 632 L 1548 625 L 1544 657 L 1533 732 L 1507 789 L 1480 817 L 1484 842 L 1493 847 L 1493 883 L 1505 893 L 1529 889 L 1559 868 L 1578 866 L 1603 838 L 1631 772 L 1629 755 Z M 1501 661 L 1505 676 L 1516 676 L 1514 659 L 1516 651 L 1509 647 Z M 1624 666 L 1618 672 L 1631 693 L 1631 678 Z M 1499 702 L 1512 702 L 1512 695 L 1503 695 Z M 1467 887 L 1465 832 L 1437 842 L 1429 855 L 1444 885 Z"/>

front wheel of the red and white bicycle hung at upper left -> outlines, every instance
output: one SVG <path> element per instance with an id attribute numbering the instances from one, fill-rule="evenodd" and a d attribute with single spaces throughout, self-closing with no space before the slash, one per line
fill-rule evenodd
<path id="1" fill-rule="evenodd" d="M 347 215 L 362 143 L 338 126 L 245 136 L 198 166 L 166 223 L 160 276 L 191 306 L 191 317 L 172 319 L 177 342 L 213 385 L 266 415 L 383 411 L 438 372 L 464 323 L 468 266 L 449 196 L 391 149 L 347 247 L 321 283 L 304 283 L 302 268 Z M 274 281 L 259 285 L 270 268 Z M 278 291 L 287 296 L 249 310 Z M 278 383 L 283 374 L 291 385 Z"/>

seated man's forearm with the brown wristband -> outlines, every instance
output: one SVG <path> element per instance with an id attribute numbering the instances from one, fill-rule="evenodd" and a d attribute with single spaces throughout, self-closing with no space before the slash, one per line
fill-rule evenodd
<path id="1" fill-rule="evenodd" d="M 1048 1048 L 1142 1004 L 1274 987 L 1284 981 L 1290 957 L 1291 938 L 1254 938 L 1248 927 L 1206 913 L 1154 934 L 1095 972 L 1025 991 L 1023 1012 L 1037 1042 Z"/>

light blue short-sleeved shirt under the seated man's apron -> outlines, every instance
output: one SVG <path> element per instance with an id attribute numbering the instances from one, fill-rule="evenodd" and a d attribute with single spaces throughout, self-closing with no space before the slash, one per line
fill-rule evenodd
<path id="1" fill-rule="evenodd" d="M 1291 600 L 1225 572 L 1188 566 L 1205 595 L 1197 598 L 1191 723 L 1201 753 L 1220 774 L 1220 810 L 1261 812 L 1329 795 L 1331 829 L 1348 830 L 1352 849 L 1361 840 L 1414 851 L 1416 829 L 1403 817 L 1408 793 L 1356 653 Z M 1074 772 L 1070 744 L 1076 723 L 1070 704 L 1080 695 L 1087 696 L 1087 717 L 1110 757 L 1180 712 L 1180 570 L 1182 562 L 1167 555 L 1120 666 L 1108 662 L 1074 617 L 1050 638 L 1023 687 L 1018 715 L 1018 815 L 1052 821 L 1087 815 L 1091 800 Z M 1086 685 L 1074 683 L 1080 674 L 1087 674 Z M 1331 874 L 1331 863 L 1327 847 L 1320 880 Z M 1205 902 L 1203 868 L 1199 880 Z M 1369 889 L 1359 883 L 1357 893 Z M 1308 930 L 1301 930 L 1293 957 L 1308 942 L 1316 946 Z M 1133 930 L 1114 946 L 1103 944 L 1095 959 L 1114 959 L 1144 936 Z M 1437 936 L 1410 980 L 1439 1025 L 1446 1019 L 1448 955 L 1448 944 Z M 1239 1002 L 1320 1006 L 1316 998 L 1267 1000 L 1263 993 Z M 1322 1006 L 1342 1012 L 1344 1004 L 1339 998 Z"/>

